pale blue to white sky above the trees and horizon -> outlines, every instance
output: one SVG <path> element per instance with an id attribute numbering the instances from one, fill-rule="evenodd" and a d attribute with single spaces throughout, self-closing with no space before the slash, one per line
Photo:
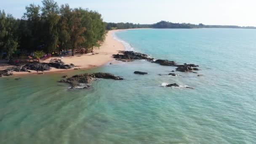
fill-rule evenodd
<path id="1" fill-rule="evenodd" d="M 256 26 L 256 0 L 55 0 L 71 8 L 89 8 L 106 22 L 153 24 L 158 21 L 191 24 Z M 41 0 L 1 0 L 0 10 L 21 18 L 25 6 Z"/>

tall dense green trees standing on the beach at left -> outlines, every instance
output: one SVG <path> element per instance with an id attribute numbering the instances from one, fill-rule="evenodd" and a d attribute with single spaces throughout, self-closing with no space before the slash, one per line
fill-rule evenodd
<path id="1" fill-rule="evenodd" d="M 70 8 L 53 0 L 30 4 L 21 19 L 0 11 L 0 59 L 17 51 L 62 51 L 72 48 L 93 50 L 106 35 L 101 14 L 83 8 Z"/>

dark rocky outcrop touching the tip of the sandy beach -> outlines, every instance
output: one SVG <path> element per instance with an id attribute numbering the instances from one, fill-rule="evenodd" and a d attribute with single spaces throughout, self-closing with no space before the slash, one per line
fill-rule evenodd
<path id="1" fill-rule="evenodd" d="M 119 54 L 121 53 L 121 54 Z M 139 60 L 139 59 L 145 59 L 148 61 L 152 61 L 153 58 L 149 58 L 147 54 L 143 53 L 136 53 L 134 51 L 119 51 L 119 53 L 114 54 L 113 58 L 117 60 Z"/>

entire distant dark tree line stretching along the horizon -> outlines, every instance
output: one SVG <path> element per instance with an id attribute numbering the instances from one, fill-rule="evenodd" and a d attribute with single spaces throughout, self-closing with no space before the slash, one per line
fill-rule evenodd
<path id="1" fill-rule="evenodd" d="M 256 29 L 256 27 L 239 27 L 225 25 L 204 25 L 204 24 L 187 24 L 172 23 L 168 21 L 160 21 L 156 24 L 133 24 L 133 23 L 107 23 L 107 29 L 134 29 L 134 28 L 155 28 L 155 29 L 193 29 L 193 28 L 241 28 Z"/>

